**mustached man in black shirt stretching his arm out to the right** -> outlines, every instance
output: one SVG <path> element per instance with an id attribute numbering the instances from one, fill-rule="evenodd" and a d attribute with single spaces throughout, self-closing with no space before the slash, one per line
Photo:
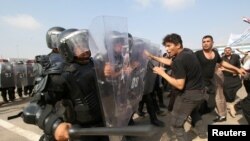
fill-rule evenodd
<path id="1" fill-rule="evenodd" d="M 235 73 L 239 73 L 241 75 L 246 74 L 246 71 L 243 69 L 239 69 L 226 61 L 223 61 L 219 55 L 219 53 L 213 49 L 213 37 L 211 35 L 206 35 L 202 38 L 202 50 L 195 52 L 201 68 L 202 68 L 202 76 L 204 80 L 204 85 L 207 88 L 207 93 L 209 94 L 209 98 L 207 102 L 204 102 L 201 105 L 200 113 L 205 114 L 211 112 L 215 108 L 215 82 L 214 82 L 214 72 L 216 63 L 219 63 L 226 69 L 232 70 Z M 192 125 L 194 126 L 198 119 L 192 114 Z"/>

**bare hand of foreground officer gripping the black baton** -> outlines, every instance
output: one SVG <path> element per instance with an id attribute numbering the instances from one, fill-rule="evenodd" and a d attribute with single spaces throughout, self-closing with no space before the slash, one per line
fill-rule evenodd
<path id="1" fill-rule="evenodd" d="M 55 130 L 55 139 L 57 141 L 68 141 L 69 140 L 69 128 L 71 128 L 70 123 L 61 123 Z"/>

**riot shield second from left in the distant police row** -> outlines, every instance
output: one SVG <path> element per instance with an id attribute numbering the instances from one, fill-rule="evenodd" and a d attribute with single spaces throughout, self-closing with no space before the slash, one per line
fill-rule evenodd
<path id="1" fill-rule="evenodd" d="M 17 88 L 23 88 L 28 85 L 27 67 L 24 63 L 14 63 L 14 80 Z"/>

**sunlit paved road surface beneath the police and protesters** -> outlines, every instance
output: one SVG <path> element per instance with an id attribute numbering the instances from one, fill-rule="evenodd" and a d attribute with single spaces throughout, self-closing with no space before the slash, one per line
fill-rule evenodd
<path id="1" fill-rule="evenodd" d="M 246 92 L 242 88 L 238 92 L 238 98 L 245 97 Z M 33 125 L 24 124 L 21 118 L 13 119 L 8 121 L 7 117 L 15 115 L 22 110 L 22 108 L 27 104 L 29 98 L 17 99 L 13 103 L 8 103 L 0 106 L 0 141 L 38 141 L 42 131 Z M 0 102 L 2 99 L 0 98 Z M 167 103 L 167 100 L 166 100 Z M 213 124 L 212 120 L 215 118 L 215 112 L 204 115 L 203 119 L 206 124 Z M 149 124 L 148 116 L 141 118 L 135 117 L 135 123 L 137 125 Z M 151 137 L 137 137 L 132 138 L 133 141 L 170 141 L 175 140 L 170 128 L 169 128 L 169 114 L 166 116 L 159 116 L 159 119 L 164 121 L 166 126 L 164 128 L 154 128 L 154 134 Z M 229 114 L 227 116 L 227 121 L 219 124 L 246 124 L 246 120 L 243 118 L 242 114 L 238 114 L 236 118 L 232 118 Z M 218 124 L 218 123 L 217 123 Z M 188 132 L 189 138 L 194 141 L 205 141 L 207 139 L 200 139 L 191 130 L 189 122 L 185 123 L 185 130 Z"/>

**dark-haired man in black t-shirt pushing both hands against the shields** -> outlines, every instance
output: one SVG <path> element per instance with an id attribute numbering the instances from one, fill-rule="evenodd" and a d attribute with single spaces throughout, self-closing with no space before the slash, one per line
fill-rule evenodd
<path id="1" fill-rule="evenodd" d="M 170 56 L 175 56 L 172 61 L 145 53 L 154 60 L 171 65 L 172 76 L 165 73 L 161 67 L 154 67 L 153 70 L 175 88 L 177 97 L 171 113 L 170 124 L 177 139 L 186 141 L 187 136 L 183 125 L 190 113 L 198 110 L 196 107 L 204 100 L 201 67 L 195 54 L 190 49 L 183 48 L 180 35 L 167 35 L 163 39 L 163 45 Z M 205 134 L 204 130 L 199 131 L 201 134 Z"/>

